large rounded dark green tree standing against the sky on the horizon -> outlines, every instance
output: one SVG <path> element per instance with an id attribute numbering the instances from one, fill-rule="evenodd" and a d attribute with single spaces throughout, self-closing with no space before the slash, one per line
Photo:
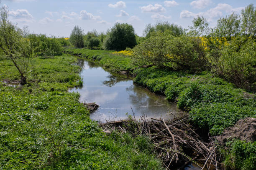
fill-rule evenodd
<path id="1" fill-rule="evenodd" d="M 127 23 L 115 23 L 107 32 L 104 46 L 107 50 L 125 50 L 126 47 L 133 48 L 137 45 L 134 29 Z"/>

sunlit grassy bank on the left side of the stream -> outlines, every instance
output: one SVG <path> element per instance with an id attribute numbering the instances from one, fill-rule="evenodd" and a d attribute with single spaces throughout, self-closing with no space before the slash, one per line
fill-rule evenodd
<path id="1" fill-rule="evenodd" d="M 10 87 L 2 81 L 18 80 L 18 72 L 0 60 L 0 169 L 161 169 L 145 137 L 105 135 L 79 94 L 67 92 L 79 85 L 76 61 L 37 57 L 30 82 Z"/>

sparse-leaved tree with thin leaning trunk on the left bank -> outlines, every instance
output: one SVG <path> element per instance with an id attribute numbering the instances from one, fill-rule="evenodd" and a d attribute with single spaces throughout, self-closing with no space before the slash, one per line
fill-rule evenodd
<path id="1" fill-rule="evenodd" d="M 0 50 L 2 57 L 10 59 L 17 68 L 21 85 L 27 83 L 26 72 L 37 45 L 35 37 L 27 32 L 8 20 L 7 7 L 0 8 Z"/>

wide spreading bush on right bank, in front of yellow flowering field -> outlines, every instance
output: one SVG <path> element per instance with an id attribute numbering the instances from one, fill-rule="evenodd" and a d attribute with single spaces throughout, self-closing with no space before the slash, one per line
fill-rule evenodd
<path id="1" fill-rule="evenodd" d="M 171 67 L 174 70 L 202 70 L 206 65 L 202 42 L 195 37 L 173 37 L 157 33 L 133 48 L 134 64 Z"/>

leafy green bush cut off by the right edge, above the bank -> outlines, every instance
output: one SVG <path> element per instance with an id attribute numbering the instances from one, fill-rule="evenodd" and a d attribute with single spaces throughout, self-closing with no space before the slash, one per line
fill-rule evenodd
<path id="1" fill-rule="evenodd" d="M 236 37 L 220 51 L 213 70 L 238 87 L 256 90 L 256 39 Z"/>

